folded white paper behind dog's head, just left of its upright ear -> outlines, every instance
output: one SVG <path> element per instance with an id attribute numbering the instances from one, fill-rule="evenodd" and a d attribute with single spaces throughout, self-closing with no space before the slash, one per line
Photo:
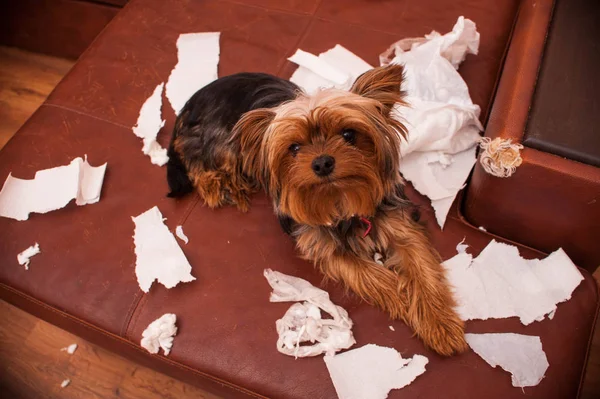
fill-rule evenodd
<path id="1" fill-rule="evenodd" d="M 306 93 L 313 94 L 321 88 L 349 89 L 356 78 L 373 67 L 339 44 L 315 56 L 298 49 L 288 58 L 299 68 L 290 81 Z"/>

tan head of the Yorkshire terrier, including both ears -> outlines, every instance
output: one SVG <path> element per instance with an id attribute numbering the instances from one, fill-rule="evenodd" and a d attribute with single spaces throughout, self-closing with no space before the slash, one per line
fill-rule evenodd
<path id="1" fill-rule="evenodd" d="M 234 137 L 244 172 L 267 189 L 280 215 L 315 226 L 374 214 L 400 179 L 405 128 L 390 113 L 402 102 L 402 76 L 399 65 L 375 68 L 350 92 L 300 95 L 240 119 Z"/>

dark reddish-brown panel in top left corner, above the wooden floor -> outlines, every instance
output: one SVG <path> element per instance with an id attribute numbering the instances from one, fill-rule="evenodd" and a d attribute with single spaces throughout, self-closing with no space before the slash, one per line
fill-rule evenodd
<path id="1" fill-rule="evenodd" d="M 78 58 L 120 7 L 77 0 L 3 0 L 0 44 Z"/>

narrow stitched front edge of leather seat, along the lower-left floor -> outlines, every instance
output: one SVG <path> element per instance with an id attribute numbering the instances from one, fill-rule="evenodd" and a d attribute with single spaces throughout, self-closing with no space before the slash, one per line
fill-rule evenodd
<path id="1" fill-rule="evenodd" d="M 69 319 L 69 320 L 71 320 L 71 321 L 73 321 L 73 322 L 75 322 L 77 324 L 80 324 L 81 326 L 83 326 L 83 327 L 85 327 L 87 329 L 94 330 L 95 332 L 100 333 L 100 334 L 106 336 L 107 338 L 110 338 L 110 339 L 112 339 L 114 341 L 119 341 L 120 343 L 122 343 L 124 345 L 128 345 L 132 349 L 134 349 L 134 350 L 136 350 L 138 352 L 141 352 L 141 353 L 143 353 L 146 356 L 150 356 L 150 357 L 152 357 L 152 358 L 154 358 L 154 359 L 156 359 L 156 360 L 158 360 L 160 362 L 167 363 L 170 366 L 176 367 L 176 368 L 184 370 L 186 372 L 192 372 L 192 373 L 197 374 L 197 375 L 199 375 L 201 377 L 204 377 L 204 378 L 207 378 L 207 379 L 209 379 L 209 380 L 211 380 L 213 382 L 217 382 L 219 384 L 225 385 L 228 388 L 231 388 L 231 389 L 236 390 L 238 392 L 244 393 L 246 395 L 250 395 L 252 397 L 259 398 L 259 399 L 268 399 L 266 396 L 260 395 L 258 393 L 253 392 L 253 391 L 250 391 L 249 389 L 246 389 L 244 387 L 235 385 L 235 384 L 233 384 L 233 383 L 231 383 L 229 381 L 223 380 L 223 379 L 221 379 L 219 377 L 215 377 L 215 376 L 212 376 L 212 375 L 207 374 L 205 372 L 202 372 L 200 370 L 191 368 L 190 366 L 186 366 L 184 364 L 175 362 L 175 361 L 173 361 L 171 359 L 165 358 L 164 356 L 150 355 L 145 349 L 141 348 L 140 346 L 136 345 L 135 343 L 133 343 L 133 342 L 127 340 L 127 339 L 119 337 L 118 335 L 115 335 L 115 334 L 113 334 L 113 333 L 111 333 L 109 331 L 105 331 L 105 330 L 101 329 L 100 327 L 97 327 L 97 326 L 95 326 L 95 325 L 93 325 L 91 323 L 88 323 L 85 320 L 79 319 L 78 317 L 75 317 L 75 316 L 73 316 L 73 315 L 71 315 L 69 313 L 66 313 L 66 312 L 63 312 L 63 311 L 61 311 L 59 309 L 56 309 L 56 308 L 54 308 L 54 307 L 52 307 L 52 306 L 50 306 L 50 305 L 48 305 L 48 304 L 40 301 L 39 299 L 36 299 L 34 297 L 31 297 L 31 296 L 29 296 L 29 295 L 27 295 L 25 293 L 22 293 L 22 292 L 18 291 L 17 289 L 15 289 L 15 288 L 13 288 L 13 287 L 5 284 L 5 283 L 0 283 L 0 288 L 3 289 L 3 290 L 6 290 L 6 291 L 10 291 L 10 292 L 14 293 L 15 295 L 20 296 L 24 300 L 31 302 L 32 304 L 35 304 L 35 305 L 40 306 L 40 307 L 43 307 L 46 310 L 48 310 L 48 311 L 50 311 L 52 313 L 55 313 L 55 314 L 57 314 L 57 315 L 59 315 L 61 317 L 64 317 L 66 319 Z M 1 292 L 2 292 L 2 290 L 0 290 L 0 293 Z M 52 324 L 52 323 L 50 323 L 50 324 Z M 102 347 L 101 345 L 98 345 L 98 346 Z M 109 351 L 109 352 L 114 353 L 112 351 Z"/>

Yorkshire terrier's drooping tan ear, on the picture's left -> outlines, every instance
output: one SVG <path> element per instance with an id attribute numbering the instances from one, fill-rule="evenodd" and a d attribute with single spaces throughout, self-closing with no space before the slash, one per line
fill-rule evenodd
<path id="1" fill-rule="evenodd" d="M 274 118 L 273 111 L 256 109 L 242 115 L 232 130 L 232 139 L 240 145 L 244 173 L 263 186 L 267 183 L 267 154 L 263 143 Z"/>

